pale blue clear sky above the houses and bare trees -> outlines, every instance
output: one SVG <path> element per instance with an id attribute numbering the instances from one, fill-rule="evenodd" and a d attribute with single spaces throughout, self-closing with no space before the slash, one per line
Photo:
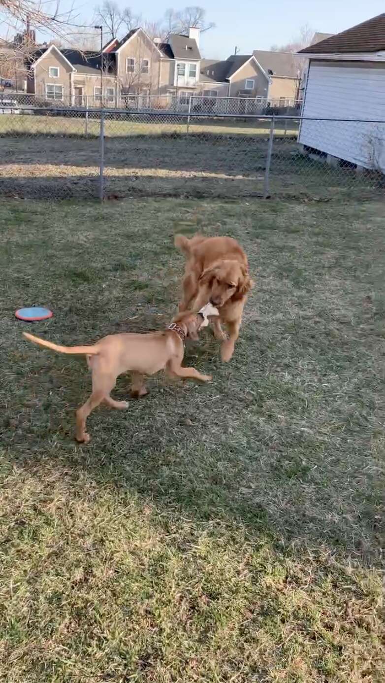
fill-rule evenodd
<path id="1" fill-rule="evenodd" d="M 240 54 L 253 50 L 269 50 L 273 44 L 291 42 L 300 27 L 308 24 L 314 31 L 338 33 L 361 21 L 385 11 L 384 0 L 274 0 L 263 3 L 256 0 L 117 0 L 122 7 L 149 20 L 156 20 L 169 7 L 182 9 L 186 5 L 200 4 L 206 10 L 208 21 L 216 27 L 201 36 L 201 54 L 205 58 L 225 59 L 233 54 L 235 46 Z M 60 8 L 71 6 L 76 22 L 90 23 L 98 0 L 61 0 Z"/>

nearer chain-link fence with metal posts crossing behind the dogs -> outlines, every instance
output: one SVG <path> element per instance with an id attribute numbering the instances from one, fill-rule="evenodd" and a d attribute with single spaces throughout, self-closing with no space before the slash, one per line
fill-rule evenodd
<path id="1" fill-rule="evenodd" d="M 191 99 L 189 104 L 191 105 Z M 83 107 L 0 113 L 0 191 L 332 199 L 384 191 L 385 121 Z"/>

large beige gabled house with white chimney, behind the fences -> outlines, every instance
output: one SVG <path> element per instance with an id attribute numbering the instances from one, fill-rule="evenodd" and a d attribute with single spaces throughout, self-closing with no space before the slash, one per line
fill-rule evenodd
<path id="1" fill-rule="evenodd" d="M 139 28 L 122 40 L 110 40 L 102 57 L 51 45 L 29 59 L 27 92 L 79 106 L 98 104 L 101 98 L 111 105 L 137 96 L 143 103 L 149 95 L 182 98 L 199 88 L 198 43 L 199 29 L 191 28 L 189 36 L 172 34 L 162 43 Z"/>

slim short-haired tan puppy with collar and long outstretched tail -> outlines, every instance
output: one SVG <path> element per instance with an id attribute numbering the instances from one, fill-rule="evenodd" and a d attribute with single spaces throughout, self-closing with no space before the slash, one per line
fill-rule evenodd
<path id="1" fill-rule="evenodd" d="M 76 410 L 76 439 L 88 443 L 90 436 L 85 423 L 91 410 L 104 401 L 110 408 L 128 408 L 126 401 L 115 401 L 110 391 L 123 372 L 132 373 L 131 393 L 135 397 L 147 393 L 145 375 L 154 375 L 167 369 L 169 374 L 182 379 L 208 382 L 211 375 L 201 375 L 194 367 L 182 367 L 184 339 L 198 339 L 198 331 L 205 322 L 203 314 L 180 313 L 167 330 L 147 334 L 122 333 L 103 337 L 93 346 L 59 346 L 45 339 L 23 332 L 30 342 L 51 348 L 59 353 L 81 354 L 87 357 L 92 372 L 92 393 L 81 408 Z"/>

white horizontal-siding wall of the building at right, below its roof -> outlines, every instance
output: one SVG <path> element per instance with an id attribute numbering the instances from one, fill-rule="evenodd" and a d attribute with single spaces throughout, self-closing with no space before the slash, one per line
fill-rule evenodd
<path id="1" fill-rule="evenodd" d="M 302 115 L 351 119 L 303 121 L 298 141 L 385 172 L 385 64 L 311 61 Z"/>

